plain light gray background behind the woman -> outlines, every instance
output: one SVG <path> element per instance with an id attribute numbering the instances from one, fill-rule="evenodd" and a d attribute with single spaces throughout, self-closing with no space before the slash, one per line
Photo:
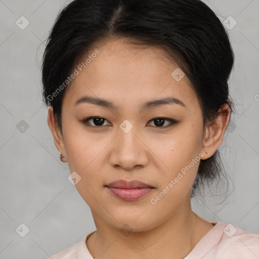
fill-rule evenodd
<path id="1" fill-rule="evenodd" d="M 222 22 L 237 21 L 228 29 L 237 113 L 220 148 L 233 192 L 219 205 L 220 196 L 204 204 L 192 200 L 193 209 L 209 221 L 259 233 L 259 0 L 204 2 Z M 67 180 L 68 165 L 59 160 L 40 98 L 40 43 L 67 3 L 0 0 L 0 259 L 47 258 L 95 230 L 90 208 Z M 16 25 L 21 16 L 30 22 L 24 30 Z M 29 126 L 23 132 L 21 120 Z M 22 223 L 29 228 L 25 237 L 16 232 Z"/>

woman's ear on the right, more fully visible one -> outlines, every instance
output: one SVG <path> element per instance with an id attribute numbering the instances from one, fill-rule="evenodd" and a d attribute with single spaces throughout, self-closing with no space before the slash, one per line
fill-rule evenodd
<path id="1" fill-rule="evenodd" d="M 205 134 L 202 144 L 202 159 L 207 159 L 211 157 L 222 143 L 224 133 L 228 127 L 230 119 L 230 107 L 225 104 L 219 110 L 219 116 L 215 121 L 206 125 Z"/>

